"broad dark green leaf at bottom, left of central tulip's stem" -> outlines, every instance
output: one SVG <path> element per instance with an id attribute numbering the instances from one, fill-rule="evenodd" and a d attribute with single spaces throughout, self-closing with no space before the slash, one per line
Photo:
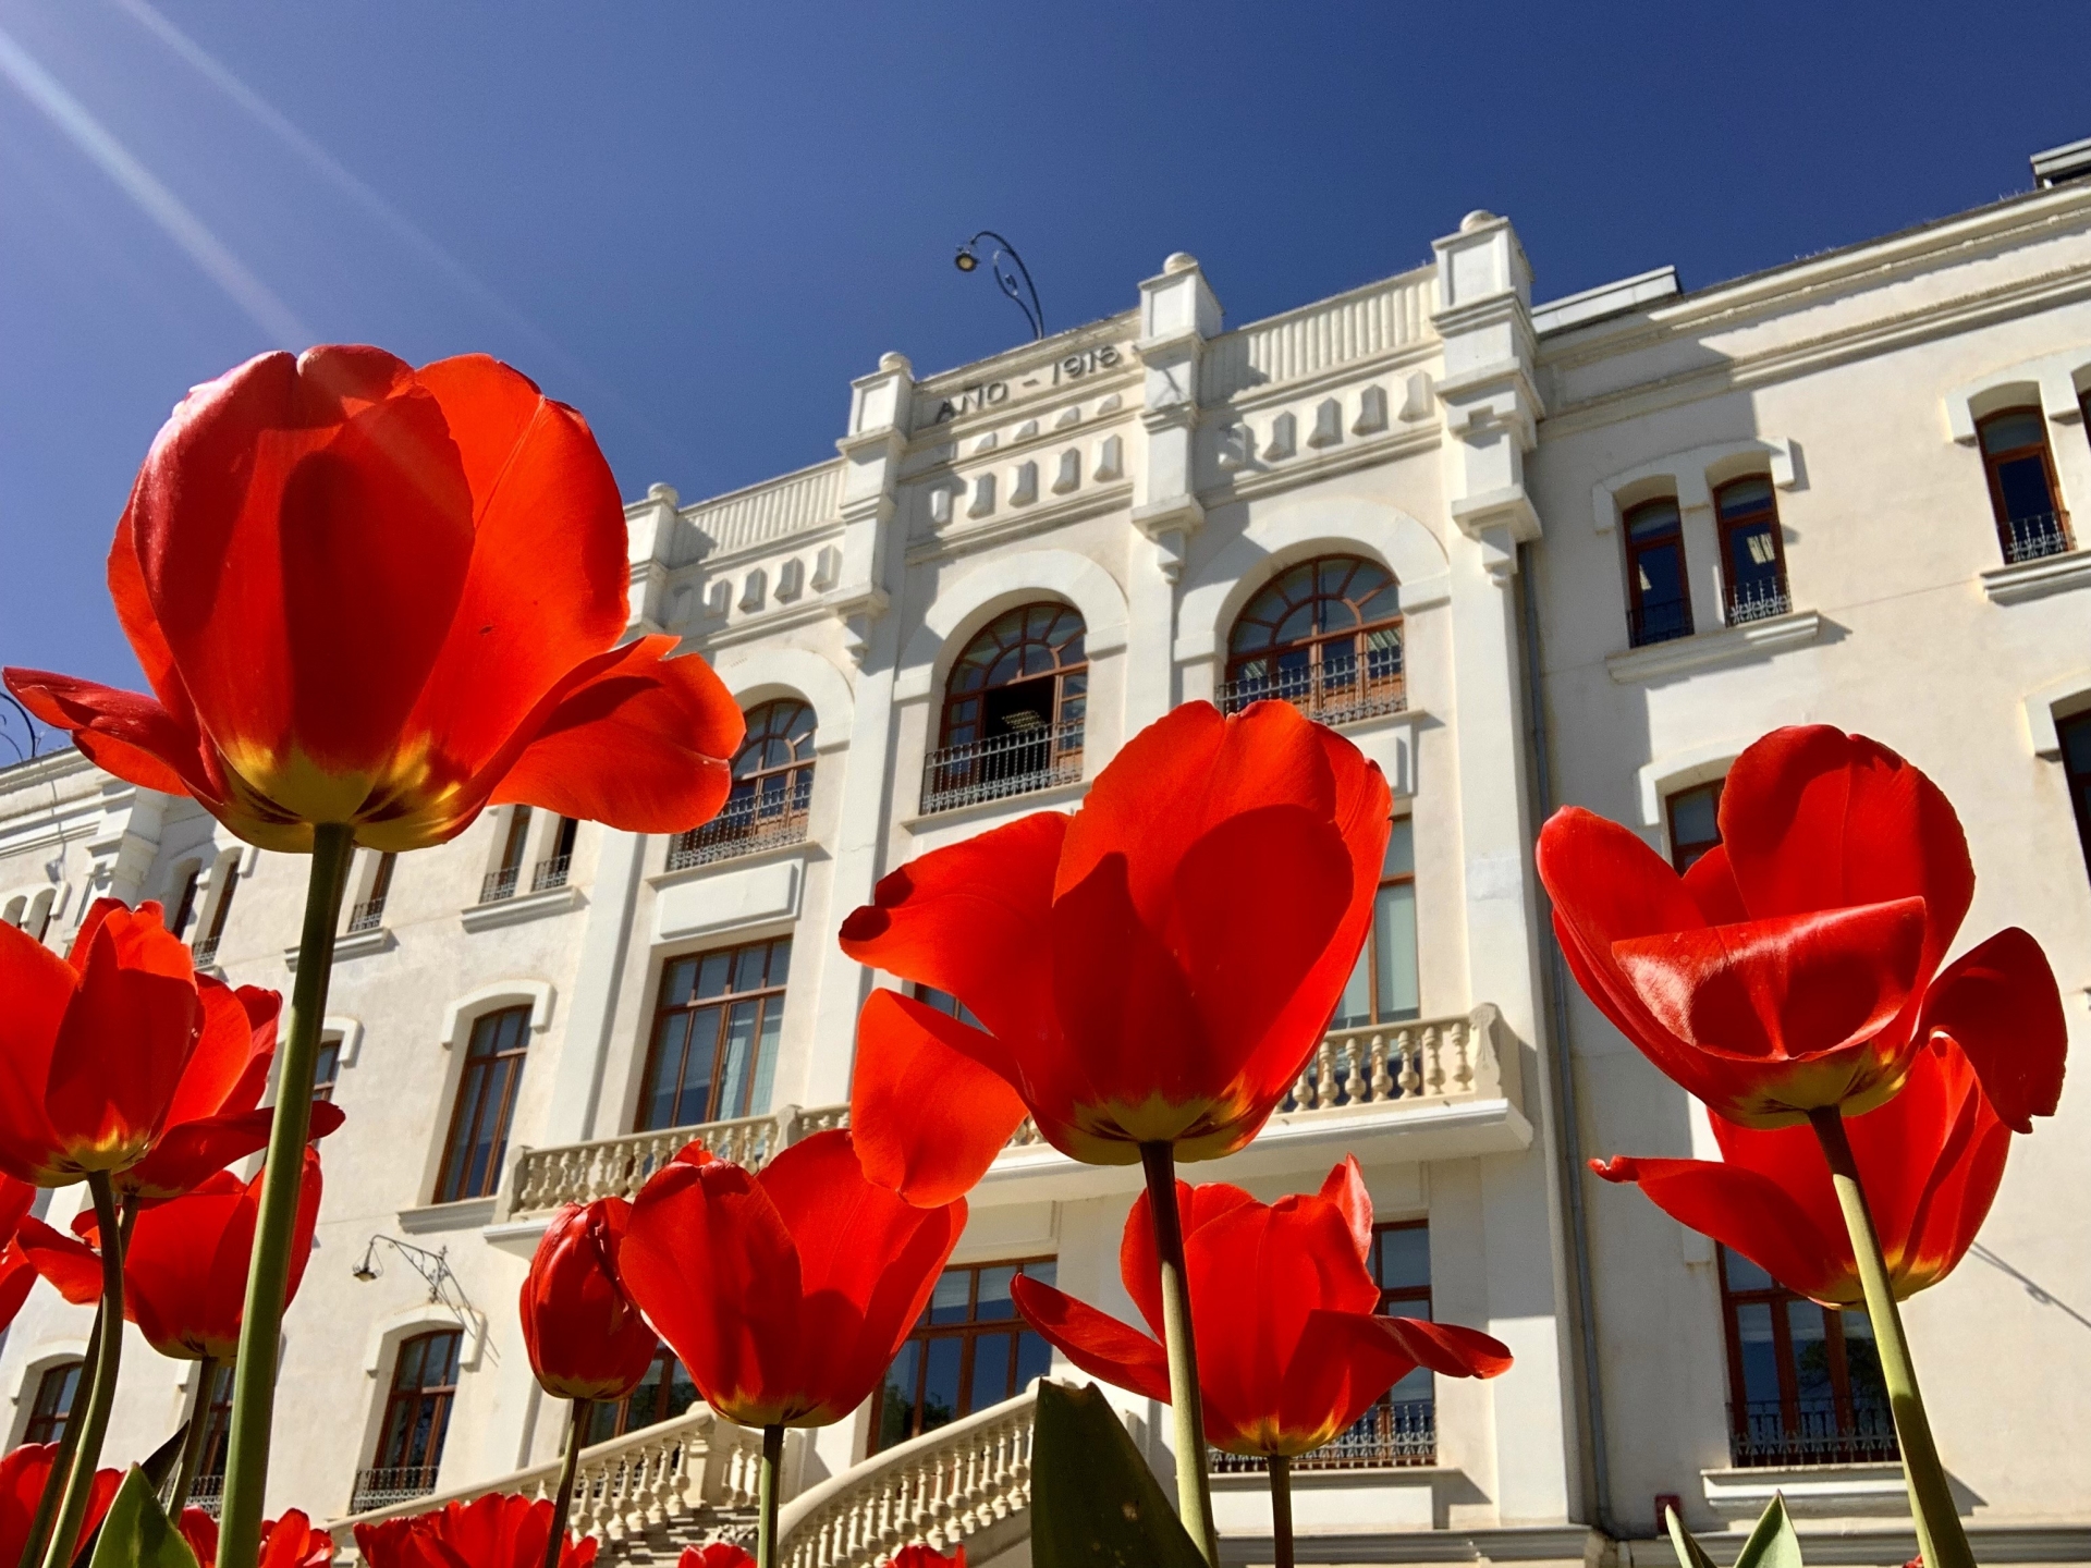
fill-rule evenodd
<path id="1" fill-rule="evenodd" d="M 1092 1382 L 1039 1382 L 1033 1568 L 1204 1568 L 1148 1461 Z M 100 1568 L 96 1564 L 94 1568 Z"/>

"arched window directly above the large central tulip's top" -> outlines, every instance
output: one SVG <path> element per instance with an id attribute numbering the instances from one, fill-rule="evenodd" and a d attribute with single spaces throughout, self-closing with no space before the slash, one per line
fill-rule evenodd
<path id="1" fill-rule="evenodd" d="M 1403 709 L 1401 590 L 1386 567 L 1322 556 L 1248 600 L 1227 633 L 1221 709 L 1267 696 L 1322 723 Z"/>

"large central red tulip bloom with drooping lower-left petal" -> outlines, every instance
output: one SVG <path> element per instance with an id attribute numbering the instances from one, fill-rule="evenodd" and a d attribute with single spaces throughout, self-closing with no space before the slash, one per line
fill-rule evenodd
<path id="1" fill-rule="evenodd" d="M 887 876 L 851 958 L 956 995 L 983 1029 L 874 991 L 851 1125 L 874 1181 L 953 1198 L 1029 1112 L 1054 1148 L 1227 1154 L 1299 1077 L 1357 960 L 1391 794 L 1286 702 L 1186 702 L 1041 811 Z"/>

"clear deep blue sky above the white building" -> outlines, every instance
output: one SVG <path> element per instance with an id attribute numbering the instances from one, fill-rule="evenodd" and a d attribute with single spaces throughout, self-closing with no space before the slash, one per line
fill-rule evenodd
<path id="1" fill-rule="evenodd" d="M 981 226 L 1054 328 L 1177 249 L 1267 316 L 1474 207 L 1541 299 L 1698 286 L 2024 190 L 2087 59 L 2083 0 L 0 0 L 0 663 L 136 682 L 136 464 L 301 332 L 498 353 L 694 500 L 832 454 L 884 349 L 1018 341 Z"/>

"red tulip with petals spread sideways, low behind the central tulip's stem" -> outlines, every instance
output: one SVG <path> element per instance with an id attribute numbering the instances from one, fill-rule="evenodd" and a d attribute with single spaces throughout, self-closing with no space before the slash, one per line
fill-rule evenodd
<path id="1" fill-rule="evenodd" d="M 1330 1171 L 1319 1194 L 1276 1204 L 1219 1181 L 1179 1181 L 1177 1210 L 1204 1430 L 1217 1449 L 1309 1453 L 1420 1365 L 1449 1378 L 1510 1369 L 1510 1351 L 1487 1334 L 1378 1315 L 1372 1200 L 1355 1158 Z M 1029 1275 L 1016 1277 L 1016 1307 L 1083 1371 L 1167 1403 L 1161 1263 L 1146 1194 L 1125 1219 L 1119 1273 L 1152 1338 Z"/>

